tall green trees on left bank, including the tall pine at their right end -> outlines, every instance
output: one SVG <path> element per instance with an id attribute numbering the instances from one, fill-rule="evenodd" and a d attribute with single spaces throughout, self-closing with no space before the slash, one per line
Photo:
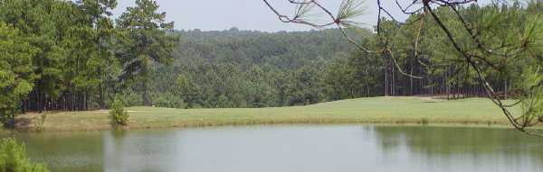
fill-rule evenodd
<path id="1" fill-rule="evenodd" d="M 114 20 L 116 5 L 0 1 L 0 114 L 106 108 L 125 87 L 146 88 L 151 67 L 173 61 L 174 23 L 154 0 L 137 0 Z"/>

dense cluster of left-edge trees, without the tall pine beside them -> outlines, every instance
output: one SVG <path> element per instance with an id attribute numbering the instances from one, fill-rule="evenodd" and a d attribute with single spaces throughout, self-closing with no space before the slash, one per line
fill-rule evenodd
<path id="1" fill-rule="evenodd" d="M 84 110 L 113 60 L 114 1 L 3 0 L 3 111 Z M 24 68 L 24 69 L 23 69 Z M 11 112 L 13 113 L 13 112 Z"/>

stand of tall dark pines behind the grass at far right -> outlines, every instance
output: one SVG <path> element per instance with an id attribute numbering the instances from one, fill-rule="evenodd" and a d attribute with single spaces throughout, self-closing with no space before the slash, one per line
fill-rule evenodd
<path id="1" fill-rule="evenodd" d="M 535 27 L 530 24 L 543 14 L 543 1 L 470 5 L 457 12 L 441 7 L 435 12 L 452 33 L 452 39 L 458 41 L 462 49 L 473 51 L 472 60 L 484 67 L 481 75 L 489 79 L 502 98 L 515 94 L 510 88 L 523 83 L 519 81 L 522 71 L 534 65 L 541 67 L 542 47 L 527 48 L 528 57 L 522 55 L 525 51 L 516 50 L 527 45 L 529 38 L 540 38 L 540 31 L 534 31 Z M 455 13 L 462 19 L 448 17 Z M 377 49 L 389 49 L 382 53 L 386 59 L 385 95 L 486 96 L 476 71 L 454 49 L 450 38 L 433 17 L 424 13 L 412 14 L 405 23 L 408 24 L 385 20 L 381 23 L 382 36 L 376 38 L 381 39 Z M 466 28 L 472 31 L 466 31 Z M 500 52 L 474 53 L 481 49 Z M 398 67 L 390 57 L 397 60 Z"/>

